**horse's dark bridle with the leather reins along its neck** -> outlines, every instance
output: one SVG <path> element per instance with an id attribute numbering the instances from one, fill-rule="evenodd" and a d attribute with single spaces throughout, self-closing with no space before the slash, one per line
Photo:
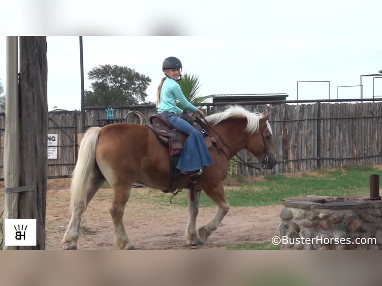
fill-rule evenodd
<path id="1" fill-rule="evenodd" d="M 202 116 L 202 119 L 204 120 L 205 124 L 208 126 L 208 128 L 210 128 L 215 134 L 216 136 L 220 139 L 221 143 L 223 143 L 226 147 L 228 147 L 228 149 L 234 154 L 234 156 L 238 157 L 239 158 L 239 161 L 235 160 L 235 159 L 232 159 L 233 161 L 239 163 L 239 164 L 242 164 L 246 167 L 249 167 L 249 168 L 252 168 L 252 169 L 267 169 L 268 168 L 268 162 L 269 162 L 269 154 L 268 154 L 268 144 L 266 143 L 265 141 L 265 138 L 264 138 L 264 128 L 261 124 L 259 124 L 259 131 L 260 131 L 260 134 L 261 134 L 261 139 L 263 140 L 263 143 L 264 143 L 264 147 L 265 147 L 265 156 L 264 156 L 264 159 L 261 163 L 247 163 L 246 161 L 244 161 L 242 158 L 240 158 L 240 156 L 237 154 L 237 152 L 235 152 L 231 146 L 228 145 L 228 143 L 225 142 L 224 139 L 221 138 L 221 136 L 213 129 L 213 127 L 208 123 L 208 121 L 205 119 L 204 116 Z M 206 133 L 209 137 L 211 137 L 205 130 L 202 130 L 201 131 L 202 133 Z M 211 140 L 212 140 L 212 143 L 217 147 L 218 150 L 222 151 L 222 153 L 225 155 L 225 157 L 227 158 L 227 161 L 229 161 L 228 159 L 228 155 L 225 153 L 225 151 L 223 149 L 220 148 L 220 146 L 216 143 L 216 139 L 211 137 Z"/>

